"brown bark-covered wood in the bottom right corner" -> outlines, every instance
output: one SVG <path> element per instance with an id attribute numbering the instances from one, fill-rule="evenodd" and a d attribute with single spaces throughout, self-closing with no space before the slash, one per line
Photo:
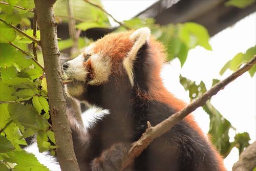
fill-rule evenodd
<path id="1" fill-rule="evenodd" d="M 234 163 L 233 171 L 253 170 L 256 167 L 256 141 L 246 147 L 239 156 L 238 162 Z"/>

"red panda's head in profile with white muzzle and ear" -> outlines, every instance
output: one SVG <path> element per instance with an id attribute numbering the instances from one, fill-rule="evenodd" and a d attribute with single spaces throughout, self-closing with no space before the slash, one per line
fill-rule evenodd
<path id="1" fill-rule="evenodd" d="M 81 96 L 84 96 L 89 88 L 102 87 L 110 81 L 110 78 L 113 79 L 117 75 L 123 75 L 127 82 L 130 82 L 126 87 L 130 89 L 135 87 L 135 66 L 140 62 L 139 53 L 146 53 L 144 58 L 151 56 L 145 65 L 141 64 L 145 66 L 147 75 L 159 77 L 164 55 L 161 44 L 150 38 L 150 35 L 150 29 L 141 28 L 135 31 L 111 33 L 91 44 L 82 54 L 63 65 L 65 75 L 70 81 L 66 84 L 67 94 L 84 100 Z M 147 46 L 144 48 L 146 52 L 141 52 L 144 46 Z M 143 60 L 141 62 L 145 62 L 146 59 Z"/>

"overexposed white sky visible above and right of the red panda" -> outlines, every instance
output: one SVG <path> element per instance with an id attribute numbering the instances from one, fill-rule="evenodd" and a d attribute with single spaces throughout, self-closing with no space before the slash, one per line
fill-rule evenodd
<path id="1" fill-rule="evenodd" d="M 130 19 L 156 1 L 102 1 L 106 11 L 116 19 L 122 21 Z M 219 71 L 224 64 L 239 52 L 245 52 L 256 44 L 256 13 L 253 13 L 237 24 L 218 33 L 210 39 L 212 51 L 201 47 L 190 50 L 183 68 L 180 68 L 179 60 L 175 59 L 163 69 L 162 76 L 167 89 L 178 98 L 189 102 L 188 92 L 185 92 L 179 83 L 179 74 L 198 83 L 203 80 L 207 89 L 211 86 L 211 79 L 223 79 L 231 72 L 227 71 L 223 76 Z M 236 127 L 238 133 L 248 132 L 251 141 L 256 138 L 256 78 L 248 73 L 231 82 L 224 90 L 212 97 L 211 103 L 220 113 Z M 209 117 L 200 108 L 194 112 L 194 116 L 204 133 L 209 130 Z M 234 133 L 230 133 L 233 137 Z M 231 139 L 233 140 L 233 139 Z M 233 148 L 230 155 L 224 160 L 228 170 L 231 170 L 234 162 L 238 160 L 238 149 Z"/>

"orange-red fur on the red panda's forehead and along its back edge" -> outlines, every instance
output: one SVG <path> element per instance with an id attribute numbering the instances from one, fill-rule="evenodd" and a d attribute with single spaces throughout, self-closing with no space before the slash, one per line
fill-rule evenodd
<path id="1" fill-rule="evenodd" d="M 95 46 L 93 48 L 94 53 L 103 53 L 104 55 L 111 57 L 112 60 L 112 73 L 120 73 L 117 71 L 123 71 L 122 61 L 123 58 L 126 57 L 127 53 L 132 49 L 133 42 L 130 40 L 130 35 L 133 31 L 123 32 L 123 33 L 112 33 L 104 36 L 102 39 L 95 42 Z M 150 50 L 149 54 L 151 55 L 152 60 L 155 63 L 154 71 L 152 71 L 150 77 L 154 79 L 148 82 L 148 87 L 150 91 L 147 94 L 141 92 L 139 89 L 137 90 L 137 95 L 141 98 L 148 100 L 157 100 L 169 106 L 172 106 L 176 111 L 180 111 L 186 107 L 186 103 L 182 100 L 174 97 L 170 92 L 168 92 L 162 82 L 162 78 L 160 77 L 160 72 L 165 61 L 165 52 L 162 44 L 160 42 L 154 40 L 153 38 L 149 41 Z M 102 52 L 103 51 L 103 52 Z M 90 60 L 84 62 L 84 66 L 90 66 Z M 204 139 L 207 137 L 203 134 L 202 130 L 198 126 L 198 124 L 194 121 L 193 116 L 188 115 L 185 117 L 187 123 L 190 124 L 193 129 L 200 134 L 200 136 Z M 210 145 L 212 151 L 214 151 L 214 155 L 217 158 L 219 168 L 221 170 L 226 170 L 223 164 L 222 157 L 218 154 L 215 147 Z"/>

